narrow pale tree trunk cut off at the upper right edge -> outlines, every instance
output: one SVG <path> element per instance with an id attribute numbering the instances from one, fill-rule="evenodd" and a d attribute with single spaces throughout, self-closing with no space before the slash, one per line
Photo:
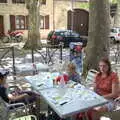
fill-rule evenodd
<path id="1" fill-rule="evenodd" d="M 117 0 L 117 11 L 114 18 L 114 27 L 120 27 L 120 0 Z"/>

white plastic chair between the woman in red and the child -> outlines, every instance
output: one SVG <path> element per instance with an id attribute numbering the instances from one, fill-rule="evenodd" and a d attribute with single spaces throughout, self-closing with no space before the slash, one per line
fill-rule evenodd
<path id="1" fill-rule="evenodd" d="M 86 77 L 86 80 L 85 80 L 85 86 L 90 88 L 90 87 L 93 87 L 93 83 L 94 83 L 94 80 L 95 80 L 95 76 L 96 74 L 98 73 L 98 71 L 94 70 L 94 69 L 90 69 L 88 71 L 88 74 L 87 74 L 87 77 Z"/>

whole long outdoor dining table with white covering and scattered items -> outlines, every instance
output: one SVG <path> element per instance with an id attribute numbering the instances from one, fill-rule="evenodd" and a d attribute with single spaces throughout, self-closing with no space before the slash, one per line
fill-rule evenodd
<path id="1" fill-rule="evenodd" d="M 108 103 L 104 97 L 72 80 L 64 86 L 54 84 L 54 79 L 59 75 L 59 73 L 43 72 L 35 76 L 26 76 L 25 80 L 60 118 L 72 117 L 77 113 Z"/>

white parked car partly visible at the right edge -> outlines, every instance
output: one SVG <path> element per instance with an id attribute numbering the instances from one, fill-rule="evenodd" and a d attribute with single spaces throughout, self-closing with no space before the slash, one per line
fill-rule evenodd
<path id="1" fill-rule="evenodd" d="M 110 38 L 113 43 L 120 41 L 120 27 L 114 27 L 110 30 Z"/>

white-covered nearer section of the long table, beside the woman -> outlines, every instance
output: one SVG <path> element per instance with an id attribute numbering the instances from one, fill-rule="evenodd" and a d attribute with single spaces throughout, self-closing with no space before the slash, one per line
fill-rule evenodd
<path id="1" fill-rule="evenodd" d="M 39 93 L 61 118 L 107 103 L 103 97 L 81 85 L 43 89 Z"/>

